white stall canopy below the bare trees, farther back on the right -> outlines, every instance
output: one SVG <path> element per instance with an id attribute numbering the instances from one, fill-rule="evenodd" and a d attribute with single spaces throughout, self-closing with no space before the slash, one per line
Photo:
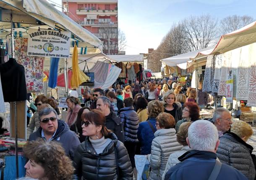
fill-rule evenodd
<path id="1" fill-rule="evenodd" d="M 170 58 L 165 58 L 165 59 L 161 59 L 160 61 L 162 61 L 165 65 L 167 66 L 178 66 L 181 69 L 186 69 L 188 68 L 188 63 L 192 62 L 192 59 L 195 58 L 198 53 L 200 52 L 205 52 L 205 51 L 212 51 L 212 47 L 209 48 L 205 48 L 205 49 L 201 49 L 201 50 L 197 50 L 197 51 L 192 51 L 192 52 L 188 52 L 188 53 L 184 53 L 184 54 L 180 54 L 177 56 L 172 56 Z M 203 56 L 202 56 L 203 58 Z"/>

